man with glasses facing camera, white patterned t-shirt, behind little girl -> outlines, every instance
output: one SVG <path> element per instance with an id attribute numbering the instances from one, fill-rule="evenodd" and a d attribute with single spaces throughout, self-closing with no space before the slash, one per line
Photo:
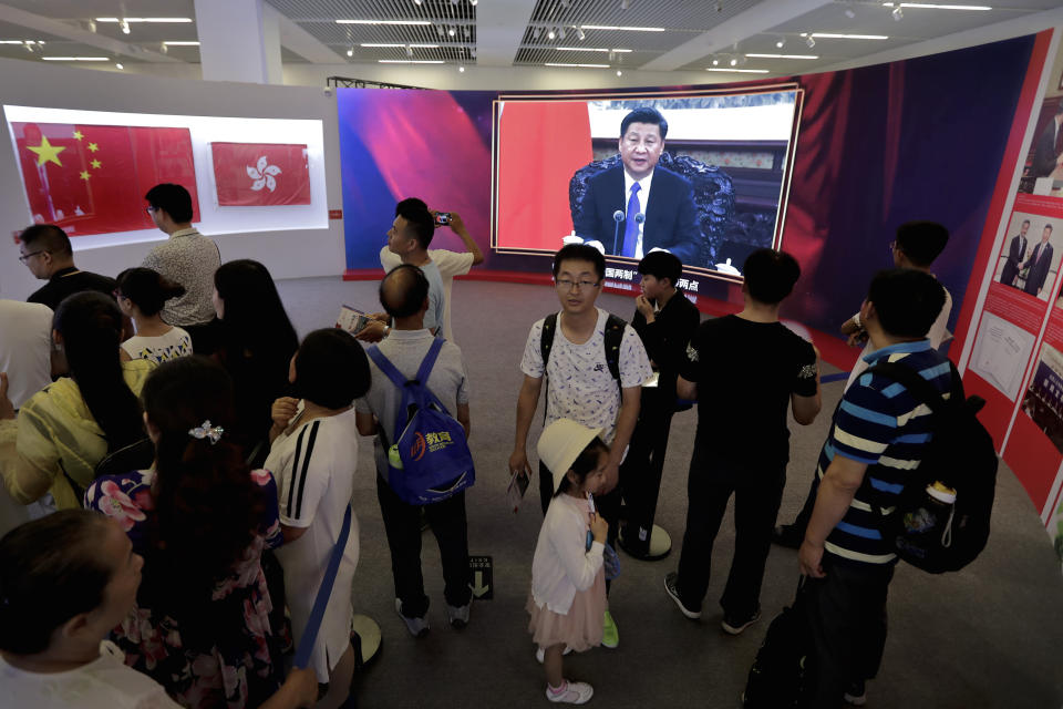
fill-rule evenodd
<path id="1" fill-rule="evenodd" d="M 634 329 L 610 322 L 610 316 L 596 307 L 606 275 L 606 259 L 598 249 L 586 244 L 570 244 L 554 257 L 554 282 L 561 310 L 532 326 L 520 361 L 524 383 L 517 400 L 517 424 L 509 471 L 529 477 L 528 429 L 539 402 L 544 376 L 547 380 L 546 424 L 571 419 L 589 428 L 600 428 L 601 439 L 610 445 L 606 470 L 610 493 L 597 500 L 598 510 L 609 522 L 609 540 L 616 544 L 620 491 L 616 489 L 623 460 L 639 418 L 641 386 L 653 371 L 642 340 Z M 621 321 L 622 322 L 622 321 Z M 544 348 L 544 328 L 554 323 L 553 340 Z M 622 331 L 612 364 L 607 354 L 607 329 Z M 548 336 L 549 337 L 549 336 Z M 547 353 L 544 367 L 544 351 Z M 612 373 L 616 367 L 617 376 Z M 619 381 L 618 381 L 619 380 Z M 543 512 L 553 497 L 553 475 L 539 462 L 539 495 Z M 618 633 L 606 612 L 602 645 L 616 647 Z"/>

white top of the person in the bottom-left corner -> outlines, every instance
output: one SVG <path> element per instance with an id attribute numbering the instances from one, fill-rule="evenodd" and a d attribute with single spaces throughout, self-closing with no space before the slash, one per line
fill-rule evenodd
<path id="1" fill-rule="evenodd" d="M 65 672 L 27 672 L 0 657 L 0 705 L 33 709 L 179 709 L 163 686 L 123 661 L 113 643 L 100 659 Z"/>

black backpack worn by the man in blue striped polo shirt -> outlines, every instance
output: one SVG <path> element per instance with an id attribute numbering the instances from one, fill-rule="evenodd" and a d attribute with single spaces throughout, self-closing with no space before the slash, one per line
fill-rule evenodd
<path id="1" fill-rule="evenodd" d="M 881 525 L 898 557 L 931 574 L 959 571 L 985 548 L 997 492 L 997 451 L 977 418 L 985 401 L 964 398 L 960 374 L 951 362 L 949 367 L 952 384 L 948 400 L 899 362 L 883 362 L 867 370 L 904 384 L 916 401 L 932 411 L 933 435 L 897 506 Z M 935 483 L 954 491 L 954 503 L 942 504 L 928 490 Z"/>

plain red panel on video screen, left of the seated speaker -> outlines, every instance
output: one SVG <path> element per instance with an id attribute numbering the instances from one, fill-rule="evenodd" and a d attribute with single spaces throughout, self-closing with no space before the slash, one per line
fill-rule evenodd
<path id="1" fill-rule="evenodd" d="M 498 246 L 561 248 L 568 183 L 594 157 L 582 101 L 507 101 L 499 119 Z"/>

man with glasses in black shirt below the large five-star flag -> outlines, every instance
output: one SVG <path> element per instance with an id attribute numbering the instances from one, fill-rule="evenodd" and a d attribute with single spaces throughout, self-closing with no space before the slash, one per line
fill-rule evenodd
<path id="1" fill-rule="evenodd" d="M 114 297 L 113 278 L 80 270 L 74 266 L 74 253 L 66 233 L 52 224 L 34 224 L 19 236 L 19 260 L 30 273 L 48 284 L 27 298 L 42 302 L 52 310 L 66 296 L 83 290 L 99 290 Z"/>

